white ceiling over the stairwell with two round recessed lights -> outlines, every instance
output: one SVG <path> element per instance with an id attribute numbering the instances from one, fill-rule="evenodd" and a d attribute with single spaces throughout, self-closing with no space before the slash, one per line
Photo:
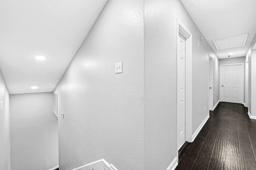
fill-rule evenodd
<path id="1" fill-rule="evenodd" d="M 10 94 L 52 92 L 106 2 L 0 0 L 0 68 Z"/>

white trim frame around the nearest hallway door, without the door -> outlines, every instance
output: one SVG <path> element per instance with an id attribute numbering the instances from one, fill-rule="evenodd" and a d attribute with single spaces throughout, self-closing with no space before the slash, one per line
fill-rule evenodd
<path id="1" fill-rule="evenodd" d="M 186 51 L 186 79 L 185 79 L 185 140 L 192 142 L 192 33 L 186 28 L 186 26 L 177 18 L 177 59 L 178 59 L 178 37 L 181 34 L 185 39 L 185 51 Z M 178 68 L 178 62 L 176 63 Z M 178 82 L 178 75 L 176 82 Z M 176 84 L 177 91 L 178 85 Z M 178 106 L 178 93 L 176 91 L 176 108 Z M 178 158 L 178 112 L 176 109 L 176 155 Z"/>

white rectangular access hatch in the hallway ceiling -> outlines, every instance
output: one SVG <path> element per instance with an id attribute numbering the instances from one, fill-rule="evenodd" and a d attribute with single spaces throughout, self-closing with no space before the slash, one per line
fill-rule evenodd
<path id="1" fill-rule="evenodd" d="M 244 47 L 247 41 L 248 34 L 234 36 L 230 38 L 224 38 L 220 40 L 213 40 L 213 43 L 217 50 Z"/>

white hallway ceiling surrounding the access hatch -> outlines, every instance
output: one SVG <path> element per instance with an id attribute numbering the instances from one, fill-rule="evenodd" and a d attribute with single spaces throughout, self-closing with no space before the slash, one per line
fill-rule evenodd
<path id="1" fill-rule="evenodd" d="M 243 57 L 256 33 L 256 0 L 180 0 L 196 26 L 219 59 Z M 244 47 L 217 50 L 213 40 L 242 34 L 248 39 Z M 199 38 L 198 38 L 199 39 Z"/>

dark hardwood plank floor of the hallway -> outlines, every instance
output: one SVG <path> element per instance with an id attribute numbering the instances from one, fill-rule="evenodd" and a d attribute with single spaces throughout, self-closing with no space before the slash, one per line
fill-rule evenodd
<path id="1" fill-rule="evenodd" d="M 256 120 L 242 104 L 220 102 L 192 143 L 179 150 L 176 170 L 256 170 Z"/>

